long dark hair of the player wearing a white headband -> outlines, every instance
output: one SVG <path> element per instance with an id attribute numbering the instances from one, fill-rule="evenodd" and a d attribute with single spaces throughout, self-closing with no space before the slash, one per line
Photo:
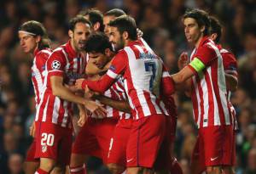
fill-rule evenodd
<path id="1" fill-rule="evenodd" d="M 19 31 L 27 31 L 34 34 L 34 36 L 41 36 L 41 40 L 38 42 L 39 50 L 49 48 L 50 40 L 42 23 L 36 20 L 27 21 L 20 26 Z"/>

